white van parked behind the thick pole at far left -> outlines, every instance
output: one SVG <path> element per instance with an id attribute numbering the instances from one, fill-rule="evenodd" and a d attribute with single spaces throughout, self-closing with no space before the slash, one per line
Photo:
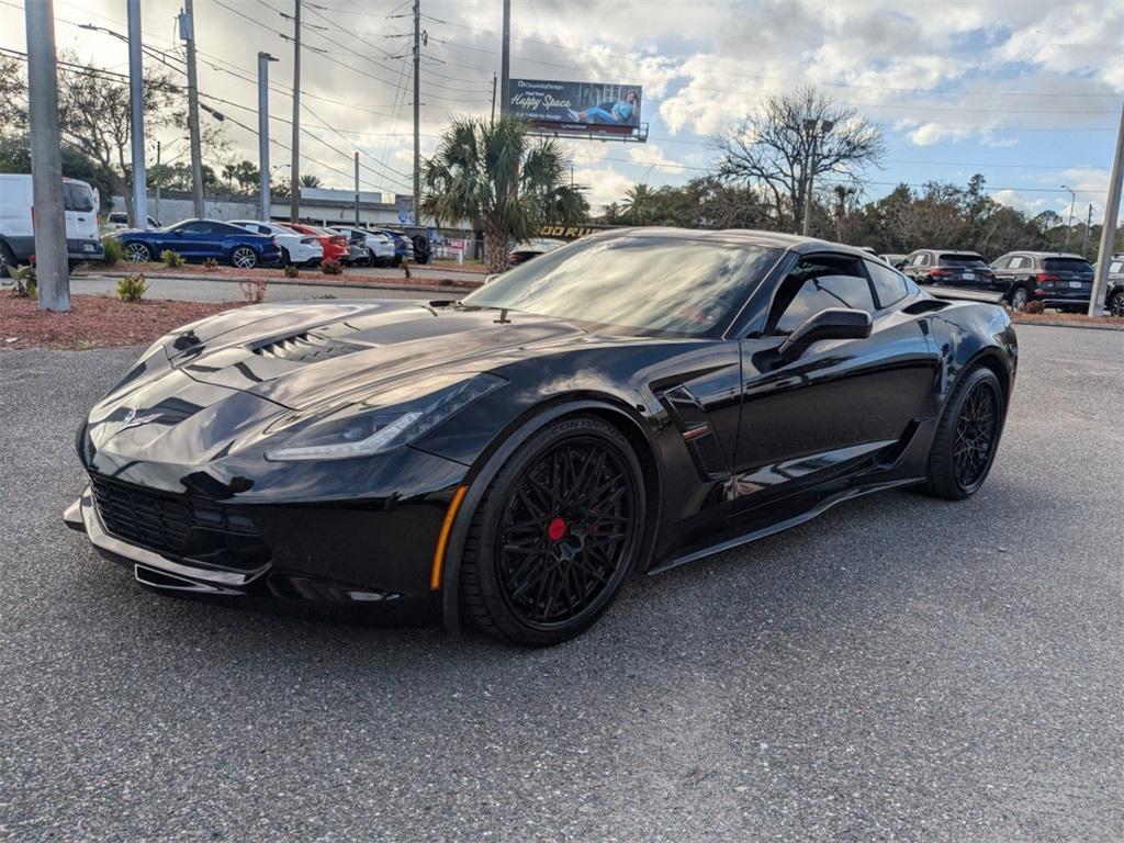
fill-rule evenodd
<path id="1" fill-rule="evenodd" d="M 0 174 L 0 278 L 8 266 L 31 262 L 35 227 L 31 176 Z M 97 191 L 84 181 L 63 179 L 66 214 L 66 252 L 73 266 L 81 261 L 100 261 L 106 252 L 98 236 Z"/>

